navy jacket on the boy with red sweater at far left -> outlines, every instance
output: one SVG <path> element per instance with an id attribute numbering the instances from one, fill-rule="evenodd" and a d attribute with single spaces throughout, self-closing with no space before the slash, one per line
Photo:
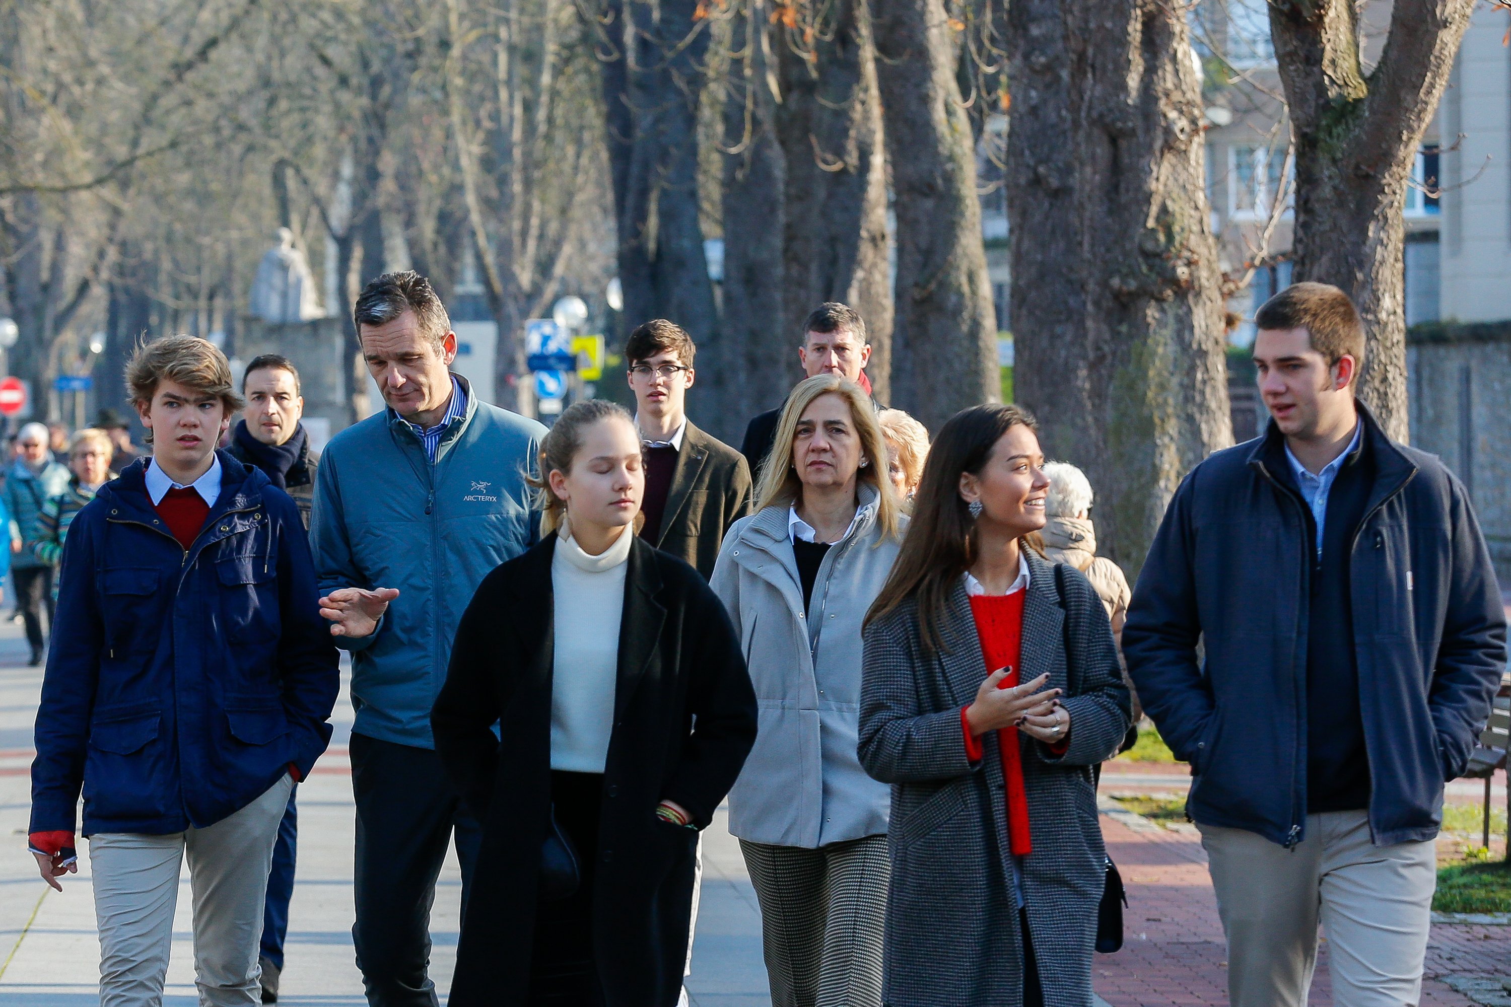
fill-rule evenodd
<path id="1" fill-rule="evenodd" d="M 331 738 L 337 652 L 299 509 L 221 457 L 184 551 L 136 460 L 68 530 L 36 713 L 30 832 L 168 835 L 240 811 Z"/>

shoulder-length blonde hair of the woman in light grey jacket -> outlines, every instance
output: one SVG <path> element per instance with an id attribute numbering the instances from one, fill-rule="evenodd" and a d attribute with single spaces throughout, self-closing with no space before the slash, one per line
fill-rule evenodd
<path id="1" fill-rule="evenodd" d="M 861 459 L 870 463 L 855 474 L 857 483 L 866 483 L 876 491 L 876 525 L 884 537 L 898 537 L 898 498 L 887 479 L 887 441 L 876 423 L 876 409 L 860 385 L 837 374 L 819 374 L 799 382 L 777 420 L 777 433 L 771 442 L 771 454 L 762 465 L 760 485 L 756 486 L 756 509 L 765 510 L 777 504 L 792 504 L 802 497 L 802 480 L 792 467 L 792 442 L 798 436 L 798 421 L 822 396 L 839 396 L 851 411 L 855 432 L 860 435 Z"/>

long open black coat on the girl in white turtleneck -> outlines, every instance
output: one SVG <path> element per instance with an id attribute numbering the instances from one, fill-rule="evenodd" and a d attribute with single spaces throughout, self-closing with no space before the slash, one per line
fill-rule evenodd
<path id="1" fill-rule="evenodd" d="M 520 1004 L 529 987 L 550 814 L 555 548 L 553 534 L 484 578 L 431 713 L 446 771 L 484 823 L 453 1007 Z M 594 957 L 610 1007 L 669 1007 L 688 956 L 697 835 L 657 818 L 656 805 L 672 800 L 709 824 L 756 743 L 756 693 L 739 636 L 698 572 L 639 539 L 629 565 Z"/>

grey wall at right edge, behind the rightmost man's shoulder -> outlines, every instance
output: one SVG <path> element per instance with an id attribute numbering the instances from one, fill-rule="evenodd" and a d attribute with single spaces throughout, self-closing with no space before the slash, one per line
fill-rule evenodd
<path id="1" fill-rule="evenodd" d="M 1511 320 L 1413 326 L 1407 374 L 1411 442 L 1464 483 L 1511 584 Z"/>

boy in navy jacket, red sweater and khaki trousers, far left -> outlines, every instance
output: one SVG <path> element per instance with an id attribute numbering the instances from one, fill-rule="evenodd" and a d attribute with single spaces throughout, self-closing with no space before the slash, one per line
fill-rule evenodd
<path id="1" fill-rule="evenodd" d="M 251 1007 L 273 839 L 331 737 L 337 655 L 298 507 L 215 450 L 240 406 L 221 350 L 157 340 L 127 383 L 153 457 L 68 531 L 30 848 L 60 888 L 82 790 L 106 1007 L 162 1002 L 187 856 L 199 1001 Z"/>

